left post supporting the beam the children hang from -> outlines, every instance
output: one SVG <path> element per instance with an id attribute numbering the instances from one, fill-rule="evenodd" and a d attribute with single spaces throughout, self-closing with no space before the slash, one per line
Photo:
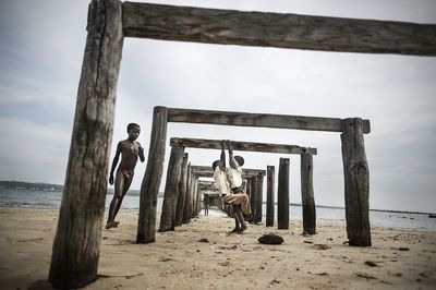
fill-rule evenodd
<path id="1" fill-rule="evenodd" d="M 179 181 L 182 170 L 184 147 L 172 146 L 165 184 L 162 213 L 160 215 L 159 231 L 174 230 L 175 204 L 179 195 Z"/>

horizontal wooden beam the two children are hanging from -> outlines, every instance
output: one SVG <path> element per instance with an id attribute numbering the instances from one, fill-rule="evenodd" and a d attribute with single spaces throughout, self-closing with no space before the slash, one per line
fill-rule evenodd
<path id="1" fill-rule="evenodd" d="M 254 142 L 240 142 L 232 141 L 232 149 L 240 152 L 265 152 L 265 153 L 280 153 L 280 154 L 311 154 L 316 155 L 316 148 L 301 147 L 296 145 L 286 144 L 268 144 L 268 143 L 254 143 Z M 201 148 L 201 149 L 221 149 L 220 140 L 204 140 L 204 138 L 171 138 L 171 146 L 182 146 L 185 148 Z"/>

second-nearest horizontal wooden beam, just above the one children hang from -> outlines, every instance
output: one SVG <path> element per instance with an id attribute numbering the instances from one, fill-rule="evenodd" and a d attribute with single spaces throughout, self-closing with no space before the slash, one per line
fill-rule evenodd
<path id="1" fill-rule="evenodd" d="M 342 119 L 339 118 L 191 110 L 177 108 L 168 109 L 168 122 L 342 132 Z M 370 120 L 363 120 L 363 133 L 370 132 Z"/>

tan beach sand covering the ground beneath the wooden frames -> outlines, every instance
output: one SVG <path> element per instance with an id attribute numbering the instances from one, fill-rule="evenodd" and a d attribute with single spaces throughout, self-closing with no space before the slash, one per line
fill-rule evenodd
<path id="1" fill-rule="evenodd" d="M 0 208 L 0 288 L 44 289 L 58 210 Z M 209 215 L 156 242 L 135 244 L 137 213 L 120 210 L 102 230 L 99 278 L 86 289 L 436 289 L 436 232 L 373 228 L 371 247 L 349 246 L 344 222 L 317 221 L 317 234 Z M 265 233 L 284 239 L 259 244 Z M 207 239 L 207 242 L 201 242 Z"/>

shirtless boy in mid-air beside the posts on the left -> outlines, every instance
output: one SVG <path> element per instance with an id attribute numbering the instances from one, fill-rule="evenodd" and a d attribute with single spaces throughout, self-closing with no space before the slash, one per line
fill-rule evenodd
<path id="1" fill-rule="evenodd" d="M 117 228 L 120 223 L 116 221 L 116 216 L 120 209 L 122 200 L 129 191 L 132 184 L 134 169 L 137 162 L 137 157 L 140 157 L 141 162 L 144 162 L 144 148 L 141 146 L 140 142 L 136 142 L 140 136 L 141 128 L 136 123 L 130 123 L 128 125 L 129 137 L 126 140 L 120 141 L 117 145 L 117 153 L 113 157 L 112 167 L 110 169 L 109 184 L 113 184 L 113 171 L 116 170 L 118 160 L 121 155 L 121 162 L 117 169 L 116 173 L 116 185 L 113 198 L 110 202 L 108 222 L 106 223 L 106 229 Z"/>

